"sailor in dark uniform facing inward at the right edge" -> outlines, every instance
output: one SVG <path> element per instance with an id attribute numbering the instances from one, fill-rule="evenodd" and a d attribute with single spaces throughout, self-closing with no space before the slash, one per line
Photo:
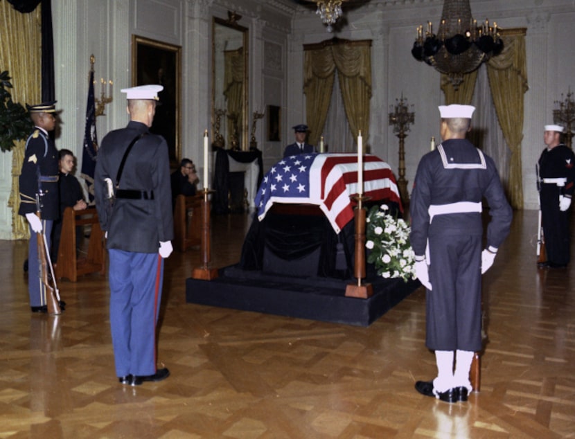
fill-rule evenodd
<path id="1" fill-rule="evenodd" d="M 569 207 L 574 190 L 575 154 L 560 141 L 563 127 L 545 125 L 547 147 L 538 162 L 538 188 L 541 224 L 545 237 L 547 268 L 567 267 L 569 253 Z"/>

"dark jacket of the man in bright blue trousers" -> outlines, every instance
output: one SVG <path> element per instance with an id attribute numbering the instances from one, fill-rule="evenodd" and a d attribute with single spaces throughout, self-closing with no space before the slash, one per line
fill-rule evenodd
<path id="1" fill-rule="evenodd" d="M 116 198 L 108 214 L 105 179 L 112 179 L 115 186 L 127 147 L 142 133 L 147 134 L 136 141 L 127 155 L 119 189 L 144 191 L 148 199 Z M 94 192 L 100 226 L 107 231 L 108 249 L 157 253 L 159 242 L 174 238 L 168 144 L 162 136 L 150 134 L 145 124 L 130 121 L 127 127 L 109 132 L 103 138 L 98 150 Z"/>

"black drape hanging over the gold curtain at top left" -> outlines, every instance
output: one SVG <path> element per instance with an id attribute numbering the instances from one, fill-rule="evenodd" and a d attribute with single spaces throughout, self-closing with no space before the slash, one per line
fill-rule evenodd
<path id="1" fill-rule="evenodd" d="M 42 102 L 55 100 L 52 0 L 8 0 L 12 8 L 28 14 L 42 2 Z"/>

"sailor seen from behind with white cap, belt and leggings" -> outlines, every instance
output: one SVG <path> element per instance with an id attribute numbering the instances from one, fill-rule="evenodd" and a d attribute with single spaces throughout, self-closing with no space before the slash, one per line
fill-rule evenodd
<path id="1" fill-rule="evenodd" d="M 421 159 L 409 205 L 416 275 L 428 290 L 425 344 L 438 368 L 416 390 L 445 402 L 466 401 L 472 390 L 471 362 L 481 350 L 481 274 L 493 264 L 513 215 L 495 163 L 465 138 L 474 110 L 439 107 L 443 142 Z M 483 251 L 482 199 L 491 216 Z"/>

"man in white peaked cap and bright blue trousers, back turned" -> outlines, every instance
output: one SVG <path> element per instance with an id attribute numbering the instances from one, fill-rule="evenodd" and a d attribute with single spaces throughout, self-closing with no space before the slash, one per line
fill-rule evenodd
<path id="1" fill-rule="evenodd" d="M 156 325 L 163 259 L 172 253 L 173 218 L 168 144 L 148 131 L 161 85 L 123 89 L 130 123 L 109 132 L 100 145 L 94 191 L 109 254 L 110 325 L 116 375 L 137 386 L 161 381 Z M 108 192 L 114 192 L 109 210 Z"/>

